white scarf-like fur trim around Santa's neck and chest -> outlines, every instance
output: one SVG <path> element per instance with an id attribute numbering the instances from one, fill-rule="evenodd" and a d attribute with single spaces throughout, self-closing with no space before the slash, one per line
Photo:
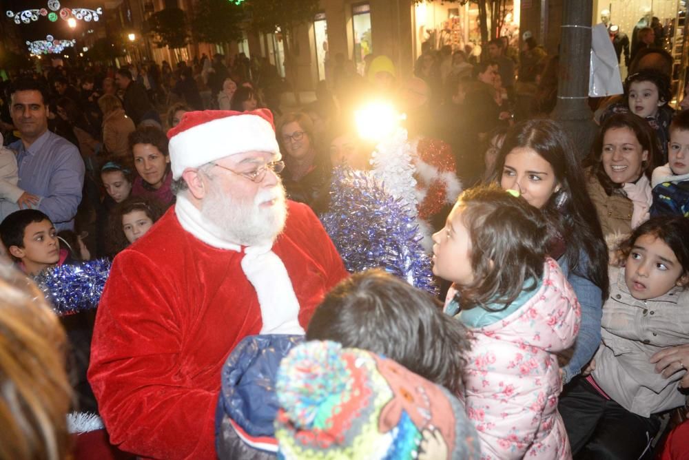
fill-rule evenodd
<path id="1" fill-rule="evenodd" d="M 177 220 L 183 229 L 218 249 L 241 252 L 239 244 L 223 239 L 218 228 L 207 222 L 196 206 L 183 194 L 175 204 Z M 263 328 L 261 334 L 304 334 L 299 324 L 299 302 L 285 264 L 272 250 L 272 244 L 244 249 L 241 265 L 251 285 L 256 289 Z"/>

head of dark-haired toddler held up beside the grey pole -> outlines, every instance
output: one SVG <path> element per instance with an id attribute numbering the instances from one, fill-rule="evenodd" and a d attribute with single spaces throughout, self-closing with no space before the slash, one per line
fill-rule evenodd
<path id="1" fill-rule="evenodd" d="M 624 94 L 633 114 L 641 118 L 656 116 L 659 107 L 666 105 L 672 98 L 670 79 L 657 70 L 640 70 L 627 77 Z"/>

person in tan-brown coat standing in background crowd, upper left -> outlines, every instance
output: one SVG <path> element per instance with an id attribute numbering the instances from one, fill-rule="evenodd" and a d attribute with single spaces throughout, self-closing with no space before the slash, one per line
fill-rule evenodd
<path id="1" fill-rule="evenodd" d="M 134 162 L 129 152 L 127 138 L 136 130 L 134 121 L 125 115 L 125 110 L 117 96 L 105 94 L 99 98 L 98 105 L 103 112 L 103 145 L 107 151 L 107 159 L 132 170 Z"/>

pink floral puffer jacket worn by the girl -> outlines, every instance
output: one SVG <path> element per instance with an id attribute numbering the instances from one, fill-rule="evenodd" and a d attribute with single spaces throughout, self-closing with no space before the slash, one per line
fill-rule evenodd
<path id="1" fill-rule="evenodd" d="M 557 399 L 555 353 L 571 346 L 581 312 L 552 259 L 542 285 L 520 309 L 489 326 L 469 328 L 473 346 L 464 372 L 466 411 L 481 440 L 482 459 L 570 459 Z"/>

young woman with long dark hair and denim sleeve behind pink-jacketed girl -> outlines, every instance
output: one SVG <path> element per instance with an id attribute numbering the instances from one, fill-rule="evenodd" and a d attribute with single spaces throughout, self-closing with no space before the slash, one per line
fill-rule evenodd
<path id="1" fill-rule="evenodd" d="M 554 121 L 531 120 L 508 132 L 495 162 L 495 182 L 514 189 L 548 218 L 548 253 L 557 260 L 582 306 L 582 326 L 564 381 L 579 375 L 601 341 L 601 308 L 608 295 L 608 249 L 584 171 L 567 134 Z"/>

